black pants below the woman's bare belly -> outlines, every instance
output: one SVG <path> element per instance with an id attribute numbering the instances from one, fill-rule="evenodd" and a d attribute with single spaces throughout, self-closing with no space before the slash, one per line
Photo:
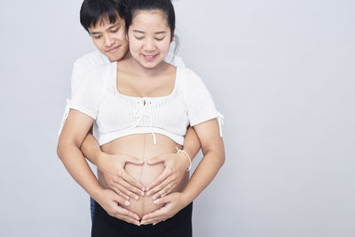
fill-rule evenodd
<path id="1" fill-rule="evenodd" d="M 91 237 L 192 237 L 193 203 L 157 225 L 133 225 L 109 216 L 95 201 Z"/>

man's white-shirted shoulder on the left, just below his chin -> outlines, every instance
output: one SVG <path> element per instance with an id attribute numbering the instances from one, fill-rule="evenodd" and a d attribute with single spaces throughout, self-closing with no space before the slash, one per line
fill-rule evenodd
<path id="1" fill-rule="evenodd" d="M 74 67 L 80 67 L 83 70 L 90 70 L 93 67 L 109 64 L 109 60 L 99 51 L 91 51 L 75 60 Z"/>

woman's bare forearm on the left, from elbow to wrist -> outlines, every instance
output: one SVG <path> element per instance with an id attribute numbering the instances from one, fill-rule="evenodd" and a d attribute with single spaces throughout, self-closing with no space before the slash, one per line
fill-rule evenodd
<path id="1" fill-rule="evenodd" d="M 103 188 L 99 185 L 98 179 L 92 173 L 79 147 L 74 143 L 59 143 L 58 156 L 76 183 L 97 199 Z"/>

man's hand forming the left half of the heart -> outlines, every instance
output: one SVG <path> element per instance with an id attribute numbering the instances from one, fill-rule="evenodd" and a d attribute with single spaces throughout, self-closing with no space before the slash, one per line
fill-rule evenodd
<path id="1" fill-rule="evenodd" d="M 143 161 L 125 154 L 102 153 L 99 157 L 99 170 L 104 173 L 106 184 L 114 192 L 127 200 L 130 197 L 138 200 L 139 195 L 145 195 L 145 187 L 124 170 L 126 163 L 143 164 Z"/>

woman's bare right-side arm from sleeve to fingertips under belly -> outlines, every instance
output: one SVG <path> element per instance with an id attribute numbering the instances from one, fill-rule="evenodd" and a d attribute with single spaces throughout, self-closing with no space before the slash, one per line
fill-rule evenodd
<path id="1" fill-rule="evenodd" d="M 161 209 L 142 217 L 141 224 L 156 224 L 164 219 L 174 216 L 180 209 L 185 208 L 193 201 L 202 190 L 209 185 L 217 175 L 218 170 L 225 162 L 225 148 L 222 138 L 219 136 L 217 120 L 202 122 L 195 127 L 196 133 L 201 140 L 203 159 L 193 172 L 184 191 L 173 193 L 154 201 L 163 204 Z"/>

